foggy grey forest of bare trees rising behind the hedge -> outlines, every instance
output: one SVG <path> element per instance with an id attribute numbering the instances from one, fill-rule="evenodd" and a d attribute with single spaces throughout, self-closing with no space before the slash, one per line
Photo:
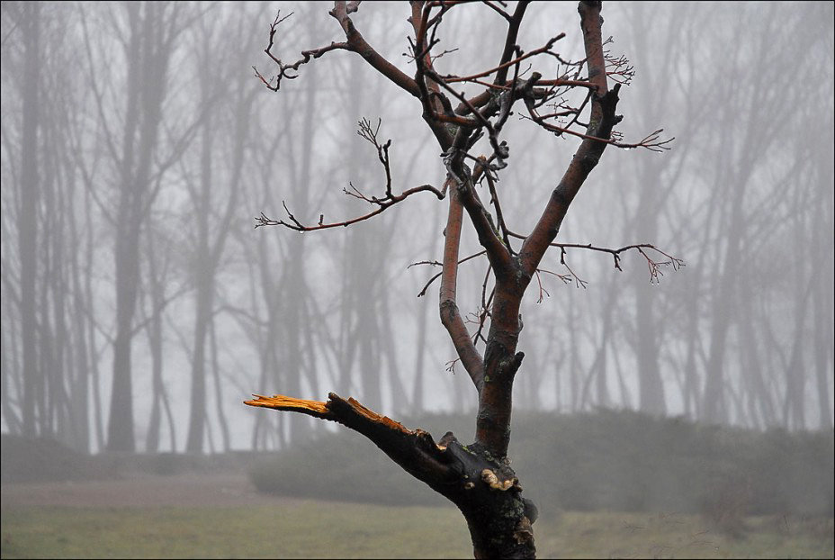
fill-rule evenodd
<path id="1" fill-rule="evenodd" d="M 409 3 L 354 4 L 352 25 L 414 76 Z M 438 74 L 495 68 L 516 5 L 444 13 Z M 438 312 L 449 154 L 416 99 L 356 52 L 322 49 L 346 39 L 332 8 L 2 4 L 4 438 L 280 457 L 350 432 L 244 401 L 336 393 L 409 428 L 460 414 L 471 440 L 479 393 Z M 500 72 L 585 79 L 577 3 L 526 9 L 517 54 L 548 50 Z M 831 478 L 833 5 L 618 2 L 602 16 L 623 121 L 522 299 L 514 420 L 609 411 L 818 434 Z M 541 111 L 591 126 L 587 93 L 554 90 Z M 501 149 L 492 129 L 470 149 L 505 156 L 474 188 L 511 252 L 586 141 L 527 115 L 503 115 Z M 457 306 L 483 352 L 496 261 L 468 220 Z"/>

